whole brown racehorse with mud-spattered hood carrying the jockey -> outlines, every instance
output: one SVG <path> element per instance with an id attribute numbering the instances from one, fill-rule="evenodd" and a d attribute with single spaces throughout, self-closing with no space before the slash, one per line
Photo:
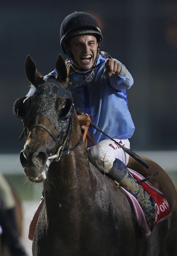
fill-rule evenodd
<path id="1" fill-rule="evenodd" d="M 156 163 L 146 171 L 130 158 L 129 167 L 152 182 L 169 201 L 171 214 L 145 237 L 126 195 L 89 162 L 77 112 L 67 87 L 67 67 L 59 54 L 57 78 L 43 77 L 30 55 L 25 71 L 34 92 L 17 99 L 26 143 L 20 161 L 28 179 L 43 182 L 42 206 L 32 244 L 33 256 L 176 256 L 177 192 Z"/>

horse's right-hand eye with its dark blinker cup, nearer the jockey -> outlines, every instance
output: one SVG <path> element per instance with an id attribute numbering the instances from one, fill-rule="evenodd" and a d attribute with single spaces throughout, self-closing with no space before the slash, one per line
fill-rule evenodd
<path id="1" fill-rule="evenodd" d="M 55 109 L 58 113 L 59 118 L 65 117 L 72 105 L 72 101 L 70 99 L 64 99 L 59 97 L 55 103 Z"/>

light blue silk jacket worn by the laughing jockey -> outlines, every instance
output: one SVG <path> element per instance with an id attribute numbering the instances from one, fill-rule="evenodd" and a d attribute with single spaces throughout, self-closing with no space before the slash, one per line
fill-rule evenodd
<path id="1" fill-rule="evenodd" d="M 80 112 L 88 113 L 91 120 L 109 136 L 117 139 L 129 139 L 135 126 L 127 104 L 126 90 L 133 85 L 133 78 L 121 63 L 121 71 L 112 77 L 104 74 L 106 58 L 99 55 L 95 72 L 88 74 L 70 70 L 69 89 L 75 107 Z M 57 75 L 52 71 L 47 76 Z M 86 77 L 86 79 L 85 79 Z M 108 139 L 95 128 L 89 128 L 93 140 Z"/>

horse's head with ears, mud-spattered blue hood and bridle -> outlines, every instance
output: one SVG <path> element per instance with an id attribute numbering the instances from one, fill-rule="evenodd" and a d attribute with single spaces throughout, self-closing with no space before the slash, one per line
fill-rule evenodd
<path id="1" fill-rule="evenodd" d="M 42 182 L 53 161 L 68 146 L 73 123 L 74 105 L 66 86 L 67 68 L 61 55 L 55 64 L 57 78 L 42 77 L 28 55 L 26 75 L 32 83 L 28 97 L 17 99 L 15 116 L 24 123 L 26 143 L 20 162 L 31 181 Z"/>

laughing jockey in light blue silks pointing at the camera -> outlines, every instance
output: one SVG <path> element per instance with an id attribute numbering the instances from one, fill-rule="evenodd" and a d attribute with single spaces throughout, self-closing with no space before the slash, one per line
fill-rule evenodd
<path id="1" fill-rule="evenodd" d="M 107 52 L 100 51 L 103 39 L 99 25 L 86 12 L 73 12 L 60 28 L 62 50 L 69 56 L 68 85 L 74 105 L 89 114 L 91 120 L 115 141 L 130 148 L 129 138 L 135 126 L 127 105 L 126 90 L 133 85 L 127 68 Z M 54 70 L 50 75 L 57 75 Z M 31 87 L 27 97 L 31 96 Z M 155 217 L 156 204 L 127 170 L 129 155 L 118 144 L 90 127 L 96 145 L 88 148 L 90 162 L 102 173 L 119 182 L 135 196 L 146 221 Z"/>

